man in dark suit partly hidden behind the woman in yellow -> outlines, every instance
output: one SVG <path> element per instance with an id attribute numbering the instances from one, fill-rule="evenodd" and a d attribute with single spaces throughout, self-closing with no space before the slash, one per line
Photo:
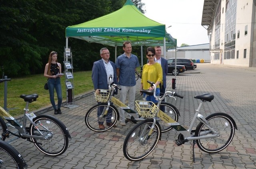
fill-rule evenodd
<path id="1" fill-rule="evenodd" d="M 160 96 L 163 96 L 166 89 L 166 75 L 168 74 L 168 63 L 167 60 L 161 57 L 162 49 L 160 46 L 155 47 L 156 55 L 155 62 L 159 63 L 163 70 L 163 81 L 160 83 Z M 162 108 L 160 108 L 162 110 Z M 162 110 L 164 111 L 164 110 Z"/>

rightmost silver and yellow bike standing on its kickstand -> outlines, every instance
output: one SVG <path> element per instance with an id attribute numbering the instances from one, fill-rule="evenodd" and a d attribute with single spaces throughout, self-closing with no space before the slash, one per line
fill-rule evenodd
<path id="1" fill-rule="evenodd" d="M 148 83 L 156 87 L 154 83 L 149 81 Z M 171 92 L 166 92 L 162 98 L 158 98 L 158 104 L 167 94 L 171 94 Z M 158 141 L 161 140 L 161 126 L 156 120 L 157 118 L 161 118 L 180 133 L 175 141 L 177 145 L 193 140 L 193 162 L 195 161 L 195 144 L 206 153 L 217 153 L 225 149 L 232 141 L 235 129 L 237 130 L 236 122 L 231 116 L 221 112 L 210 114 L 206 118 L 200 114 L 202 104 L 211 102 L 214 95 L 205 93 L 194 96 L 194 98 L 200 99 L 201 102 L 188 129 L 170 116 L 162 114 L 157 106 L 153 106 L 153 108 L 156 107 L 156 110 L 150 111 L 151 118 L 136 124 L 127 134 L 123 145 L 124 156 L 130 161 L 138 161 L 147 157 L 154 150 Z M 199 124 L 195 130 L 192 130 L 197 120 L 199 120 Z"/>

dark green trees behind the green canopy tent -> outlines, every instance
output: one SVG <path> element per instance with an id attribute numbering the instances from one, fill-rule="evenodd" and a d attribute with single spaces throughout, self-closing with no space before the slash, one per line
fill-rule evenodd
<path id="1" fill-rule="evenodd" d="M 140 0 L 132 0 L 140 6 Z M 0 3 L 0 70 L 9 77 L 44 72 L 51 51 L 63 63 L 65 32 L 68 26 L 80 24 L 114 12 L 126 0 L 2 0 Z M 144 4 L 142 3 L 142 9 Z M 142 10 L 142 13 L 144 10 Z M 100 59 L 104 45 L 70 38 L 74 71 L 91 70 Z M 108 47 L 115 53 L 114 47 Z M 136 53 L 133 47 L 133 53 Z M 139 49 L 139 48 L 138 48 Z M 118 53 L 122 53 L 122 47 Z M 139 52 L 138 52 L 139 53 Z M 112 55 L 114 58 L 114 55 Z M 113 59 L 112 58 L 112 59 Z"/>

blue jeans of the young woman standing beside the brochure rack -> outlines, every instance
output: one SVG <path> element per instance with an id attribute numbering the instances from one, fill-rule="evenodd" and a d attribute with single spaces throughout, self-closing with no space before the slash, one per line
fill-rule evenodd
<path id="1" fill-rule="evenodd" d="M 54 101 L 54 88 L 55 88 L 57 93 L 57 98 L 58 98 L 58 108 L 60 108 L 62 104 L 62 91 L 61 91 L 61 85 L 60 85 L 60 78 L 59 77 L 57 77 L 56 79 L 49 78 L 48 88 L 49 88 L 50 101 L 51 101 L 52 107 L 54 108 L 54 110 L 56 109 L 56 105 Z"/>

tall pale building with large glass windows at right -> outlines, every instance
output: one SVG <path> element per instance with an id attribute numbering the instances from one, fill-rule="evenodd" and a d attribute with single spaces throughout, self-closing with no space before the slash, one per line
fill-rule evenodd
<path id="1" fill-rule="evenodd" d="M 211 63 L 256 67 L 256 0 L 204 0 Z"/>

